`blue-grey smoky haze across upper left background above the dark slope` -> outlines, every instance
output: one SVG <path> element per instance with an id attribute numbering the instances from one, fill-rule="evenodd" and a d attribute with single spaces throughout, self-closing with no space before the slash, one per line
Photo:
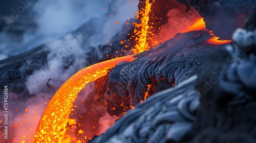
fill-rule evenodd
<path id="1" fill-rule="evenodd" d="M 103 25 L 98 36 L 102 35 L 100 39 L 106 41 L 120 30 L 125 20 L 133 18 L 137 12 L 136 1 L 24 0 L 23 2 L 26 3 L 16 1 L 15 4 L 9 4 L 11 6 L 8 9 L 4 9 L 5 13 L 2 16 L 6 19 L 3 20 L 3 31 L 0 21 L 1 59 L 26 52 L 74 31 L 82 23 L 95 17 L 101 17 L 102 20 L 94 22 L 90 28 L 98 29 Z M 19 11 L 19 8 L 23 8 L 24 11 Z M 105 19 L 108 21 L 104 21 Z"/>

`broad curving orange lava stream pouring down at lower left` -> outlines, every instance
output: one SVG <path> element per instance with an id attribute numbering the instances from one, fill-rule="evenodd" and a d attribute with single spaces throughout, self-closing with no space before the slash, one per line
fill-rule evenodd
<path id="1" fill-rule="evenodd" d="M 75 125 L 76 121 L 69 118 L 72 112 L 73 103 L 78 93 L 86 84 L 105 76 L 108 69 L 115 67 L 122 62 L 133 61 L 132 56 L 104 61 L 78 71 L 66 81 L 54 94 L 44 114 L 39 121 L 33 142 L 71 142 L 76 138 L 66 135 L 68 125 Z M 93 118 L 91 119 L 93 120 Z M 78 133 L 83 131 L 78 131 Z M 84 131 L 86 132 L 86 131 Z M 86 137 L 84 137 L 86 138 Z M 87 137 L 89 139 L 89 137 Z M 78 140 L 78 142 L 81 142 Z"/>

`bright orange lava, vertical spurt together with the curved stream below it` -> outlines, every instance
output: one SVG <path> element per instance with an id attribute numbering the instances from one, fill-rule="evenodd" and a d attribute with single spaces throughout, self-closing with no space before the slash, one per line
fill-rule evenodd
<path id="1" fill-rule="evenodd" d="M 134 49 L 135 54 L 139 54 L 149 49 L 148 42 L 150 42 L 151 39 L 148 38 L 150 37 L 148 36 L 148 33 L 150 33 L 148 19 L 152 3 L 147 0 L 145 8 L 137 13 L 136 18 L 138 18 L 139 15 L 141 15 L 142 18 L 140 19 L 140 24 L 136 22 L 134 23 L 134 26 L 137 28 L 134 33 L 138 36 L 135 39 L 137 41 Z M 33 142 L 41 142 L 43 140 L 45 142 L 71 142 L 71 136 L 66 134 L 66 131 L 68 130 L 67 124 L 76 124 L 73 119 L 69 118 L 69 115 L 72 112 L 71 108 L 73 107 L 73 103 L 75 102 L 79 91 L 81 91 L 87 83 L 106 75 L 107 69 L 116 66 L 120 62 L 132 61 L 133 59 L 133 56 L 127 56 L 101 62 L 84 68 L 72 76 L 54 94 L 54 97 L 47 106 L 38 124 Z"/>

